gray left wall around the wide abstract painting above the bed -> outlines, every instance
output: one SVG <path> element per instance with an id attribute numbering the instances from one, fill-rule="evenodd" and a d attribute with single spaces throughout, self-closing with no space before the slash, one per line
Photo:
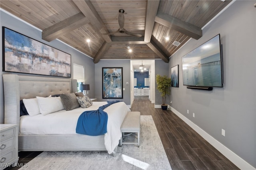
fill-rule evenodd
<path id="1" fill-rule="evenodd" d="M 94 98 L 94 63 L 93 60 L 86 55 L 76 51 L 75 49 L 69 47 L 68 45 L 58 41 L 54 40 L 51 42 L 47 42 L 41 39 L 42 32 L 38 29 L 35 29 L 34 27 L 6 14 L 3 11 L 0 11 L 0 41 L 1 41 L 1 47 L 0 47 L 0 123 L 4 123 L 4 93 L 3 93 L 3 82 L 2 82 L 2 74 L 20 74 L 20 75 L 30 75 L 30 76 L 41 76 L 36 74 L 22 74 L 22 73 L 12 73 L 12 72 L 3 72 L 2 71 L 2 26 L 5 26 L 9 29 L 12 29 L 14 31 L 17 31 L 18 33 L 22 33 L 28 37 L 31 37 L 33 39 L 36 39 L 37 41 L 40 41 L 42 43 L 45 43 L 47 45 L 50 45 L 56 49 L 59 49 L 61 51 L 64 51 L 71 55 L 71 64 L 73 66 L 73 63 L 84 65 L 85 68 L 85 79 L 86 83 L 90 84 L 90 91 L 88 94 L 88 97 Z M 89 73 L 89 74 L 88 74 Z M 47 76 L 49 77 L 49 76 Z M 72 70 L 72 77 L 73 77 L 73 70 Z"/>

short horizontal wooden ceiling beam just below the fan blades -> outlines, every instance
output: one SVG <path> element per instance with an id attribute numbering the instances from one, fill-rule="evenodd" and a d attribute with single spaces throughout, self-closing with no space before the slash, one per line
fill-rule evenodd
<path id="1" fill-rule="evenodd" d="M 144 37 L 112 37 L 111 44 L 146 44 Z"/>

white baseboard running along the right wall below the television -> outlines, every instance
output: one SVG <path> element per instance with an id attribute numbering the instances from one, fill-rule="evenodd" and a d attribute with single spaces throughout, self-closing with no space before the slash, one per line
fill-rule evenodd
<path id="1" fill-rule="evenodd" d="M 155 105 L 155 108 L 158 105 Z M 161 108 L 161 105 L 159 105 Z M 188 118 L 186 118 L 184 115 L 182 115 L 180 112 L 175 110 L 173 107 L 171 107 L 171 111 L 175 113 L 180 119 L 185 121 L 192 129 L 194 129 L 199 135 L 201 135 L 206 141 L 208 141 L 214 148 L 216 148 L 218 151 L 220 151 L 226 158 L 228 158 L 231 162 L 233 162 L 238 168 L 241 170 L 256 170 L 253 166 L 251 166 L 248 162 L 240 158 L 237 154 L 232 152 L 232 150 L 228 149 L 222 143 L 214 139 L 211 135 L 206 133 L 203 129 L 198 127 L 196 124 L 194 124 L 192 121 L 190 121 Z"/>

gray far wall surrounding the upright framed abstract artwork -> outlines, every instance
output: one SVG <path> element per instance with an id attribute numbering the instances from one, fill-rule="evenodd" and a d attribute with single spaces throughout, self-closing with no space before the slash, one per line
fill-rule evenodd
<path id="1" fill-rule="evenodd" d="M 123 99 L 109 99 L 122 100 L 126 105 L 131 104 L 131 89 L 130 89 L 130 60 L 100 60 L 99 63 L 95 64 L 95 98 L 97 101 L 107 101 L 108 99 L 102 99 L 102 67 L 122 67 L 123 68 Z M 126 82 L 129 84 L 126 85 Z"/>

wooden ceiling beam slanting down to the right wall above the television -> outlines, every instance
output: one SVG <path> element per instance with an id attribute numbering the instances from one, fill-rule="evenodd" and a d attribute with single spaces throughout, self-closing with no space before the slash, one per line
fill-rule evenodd
<path id="1" fill-rule="evenodd" d="M 196 27 L 195 25 L 181 21 L 178 18 L 175 18 L 168 14 L 158 12 L 156 14 L 155 21 L 166 27 L 175 29 L 180 33 L 184 33 L 185 35 L 188 35 L 189 37 L 192 37 L 194 39 L 200 39 L 202 37 L 202 29 L 200 27 Z"/>

